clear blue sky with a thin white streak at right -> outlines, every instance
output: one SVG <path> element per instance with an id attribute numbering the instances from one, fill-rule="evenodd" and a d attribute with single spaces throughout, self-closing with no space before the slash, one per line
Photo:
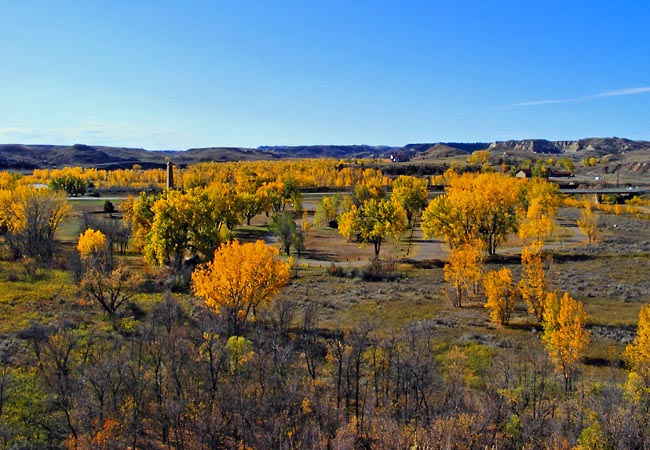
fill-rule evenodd
<path id="1" fill-rule="evenodd" d="M 650 140 L 647 0 L 0 0 L 0 143 Z"/>

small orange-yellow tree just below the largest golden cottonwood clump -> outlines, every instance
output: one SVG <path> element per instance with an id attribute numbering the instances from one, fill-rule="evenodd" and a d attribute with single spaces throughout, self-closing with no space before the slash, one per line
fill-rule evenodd
<path id="1" fill-rule="evenodd" d="M 451 249 L 449 262 L 445 264 L 445 281 L 453 290 L 450 293 L 453 306 L 462 307 L 470 287 L 480 283 L 483 276 L 484 244 L 470 240 Z"/>

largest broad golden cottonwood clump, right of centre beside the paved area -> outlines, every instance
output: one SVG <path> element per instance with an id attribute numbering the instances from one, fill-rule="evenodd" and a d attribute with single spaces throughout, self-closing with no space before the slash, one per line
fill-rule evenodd
<path id="1" fill-rule="evenodd" d="M 425 236 L 444 238 L 451 247 L 480 238 L 489 254 L 517 228 L 521 183 L 498 173 L 446 175 L 445 194 L 422 213 Z"/>

